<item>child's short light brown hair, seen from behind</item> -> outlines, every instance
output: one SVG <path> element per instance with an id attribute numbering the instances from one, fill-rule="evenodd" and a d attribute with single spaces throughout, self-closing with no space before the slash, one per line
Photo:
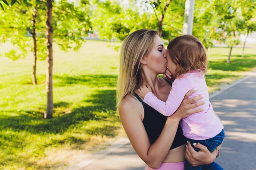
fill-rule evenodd
<path id="1" fill-rule="evenodd" d="M 174 75 L 176 78 L 195 70 L 206 74 L 207 52 L 197 37 L 193 35 L 176 37 L 169 42 L 167 52 L 177 65 Z"/>

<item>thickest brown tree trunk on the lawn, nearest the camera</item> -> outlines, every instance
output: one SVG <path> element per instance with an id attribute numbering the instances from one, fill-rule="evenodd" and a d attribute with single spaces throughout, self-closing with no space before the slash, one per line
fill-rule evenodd
<path id="1" fill-rule="evenodd" d="M 46 15 L 46 34 L 47 34 L 47 71 L 46 71 L 46 90 L 47 90 L 47 105 L 44 114 L 45 119 L 52 118 L 53 112 L 53 95 L 52 95 L 52 0 L 47 0 L 47 15 Z"/>

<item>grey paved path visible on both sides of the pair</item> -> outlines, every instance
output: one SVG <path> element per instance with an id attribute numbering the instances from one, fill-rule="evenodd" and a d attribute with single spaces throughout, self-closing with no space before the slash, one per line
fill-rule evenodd
<path id="1" fill-rule="evenodd" d="M 210 100 L 225 128 L 221 156 L 224 170 L 256 170 L 256 76 L 243 79 Z M 128 139 L 110 148 L 109 153 L 81 162 L 71 170 L 144 170 Z"/>

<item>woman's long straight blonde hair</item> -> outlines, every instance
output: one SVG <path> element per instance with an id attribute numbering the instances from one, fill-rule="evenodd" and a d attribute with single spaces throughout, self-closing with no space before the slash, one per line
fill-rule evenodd
<path id="1" fill-rule="evenodd" d="M 125 96 L 133 94 L 143 84 L 140 62 L 154 47 L 157 31 L 140 29 L 125 38 L 121 46 L 117 79 L 116 106 Z"/>

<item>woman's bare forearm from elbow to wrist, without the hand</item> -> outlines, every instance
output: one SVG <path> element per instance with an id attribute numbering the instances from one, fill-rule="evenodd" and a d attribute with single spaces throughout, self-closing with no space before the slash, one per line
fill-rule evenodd
<path id="1" fill-rule="evenodd" d="M 158 168 L 166 158 L 175 138 L 180 119 L 175 115 L 167 118 L 162 133 L 148 149 L 148 166 Z M 146 162 L 147 163 L 147 162 Z"/>

